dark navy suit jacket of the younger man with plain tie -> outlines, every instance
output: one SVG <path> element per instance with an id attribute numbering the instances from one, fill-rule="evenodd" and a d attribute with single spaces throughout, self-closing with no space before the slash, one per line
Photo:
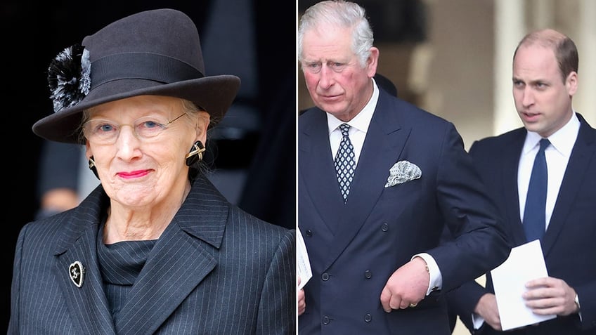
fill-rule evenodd
<path id="1" fill-rule="evenodd" d="M 580 120 L 578 138 L 540 243 L 548 275 L 564 280 L 578 293 L 582 322 L 574 314 L 507 332 L 484 324 L 475 334 L 596 334 L 596 130 L 576 115 Z M 517 167 L 525 139 L 526 129 L 520 128 L 479 140 L 469 150 L 505 218 L 503 223 L 514 247 L 526 243 L 517 194 Z M 494 293 L 490 272 L 486 289 L 469 282 L 448 294 L 451 310 L 471 332 L 472 313 L 487 292 Z"/>

